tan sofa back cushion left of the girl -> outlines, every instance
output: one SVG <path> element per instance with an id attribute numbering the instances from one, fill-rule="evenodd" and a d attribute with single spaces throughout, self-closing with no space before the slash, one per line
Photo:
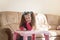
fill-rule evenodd
<path id="1" fill-rule="evenodd" d="M 20 23 L 21 20 L 20 12 L 2 12 L 0 15 L 1 15 L 0 19 L 2 25 Z"/>

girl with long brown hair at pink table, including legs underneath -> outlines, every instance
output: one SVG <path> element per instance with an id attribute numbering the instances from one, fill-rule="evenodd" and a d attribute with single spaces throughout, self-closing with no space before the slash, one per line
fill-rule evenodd
<path id="1" fill-rule="evenodd" d="M 19 29 L 21 31 L 31 31 L 35 29 L 35 17 L 33 12 L 24 12 L 21 18 L 21 23 Z M 31 36 L 28 36 L 28 40 L 34 40 L 34 34 Z M 17 40 L 23 40 L 23 36 L 18 36 Z"/>

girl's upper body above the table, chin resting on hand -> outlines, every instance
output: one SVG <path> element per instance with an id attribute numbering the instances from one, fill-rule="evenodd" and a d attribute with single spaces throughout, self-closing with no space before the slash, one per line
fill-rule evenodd
<path id="1" fill-rule="evenodd" d="M 33 12 L 24 12 L 22 15 L 20 30 L 32 30 L 35 26 L 35 17 Z"/>

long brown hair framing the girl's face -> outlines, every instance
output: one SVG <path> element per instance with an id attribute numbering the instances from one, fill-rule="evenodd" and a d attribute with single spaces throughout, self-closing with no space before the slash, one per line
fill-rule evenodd
<path id="1" fill-rule="evenodd" d="M 23 14 L 22 14 L 22 17 L 21 17 L 21 22 L 20 22 L 20 26 L 19 27 L 21 27 L 22 25 L 24 25 L 24 23 L 25 23 L 25 17 L 24 17 L 24 15 L 27 15 L 27 14 L 31 14 L 31 26 L 33 27 L 33 26 L 35 26 L 35 16 L 34 16 L 34 13 L 33 12 L 24 12 Z"/>

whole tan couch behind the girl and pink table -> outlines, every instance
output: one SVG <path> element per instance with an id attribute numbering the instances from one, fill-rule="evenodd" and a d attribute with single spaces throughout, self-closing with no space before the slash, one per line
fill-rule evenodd
<path id="1" fill-rule="evenodd" d="M 21 20 L 22 12 L 12 12 L 12 11 L 3 11 L 0 12 L 0 40 L 13 40 L 13 32 L 19 29 L 19 24 Z M 49 28 L 49 39 L 50 40 L 60 40 L 60 30 L 57 27 L 60 25 L 60 16 L 45 14 L 48 24 L 51 26 Z M 3 32 L 1 32 L 3 30 Z M 4 31 L 5 30 L 5 31 Z M 8 30 L 8 31 L 7 31 Z M 9 34 L 10 33 L 10 34 Z M 38 34 L 36 36 L 37 40 L 44 40 L 44 36 Z"/>

